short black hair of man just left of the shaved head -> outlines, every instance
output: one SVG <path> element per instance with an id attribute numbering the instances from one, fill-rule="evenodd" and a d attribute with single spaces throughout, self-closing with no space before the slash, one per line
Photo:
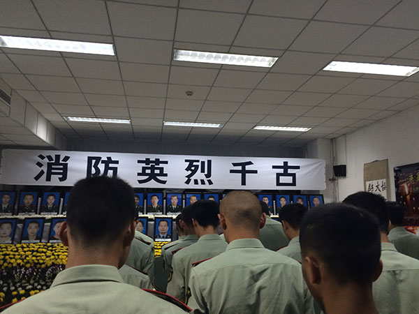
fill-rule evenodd
<path id="1" fill-rule="evenodd" d="M 209 225 L 218 227 L 218 214 L 220 214 L 219 204 L 212 200 L 199 200 L 191 205 L 191 216 L 202 227 Z"/>

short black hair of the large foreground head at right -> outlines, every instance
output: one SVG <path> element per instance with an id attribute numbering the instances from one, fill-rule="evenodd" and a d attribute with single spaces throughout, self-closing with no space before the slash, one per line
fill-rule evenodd
<path id="1" fill-rule="evenodd" d="M 348 204 L 321 205 L 304 216 L 300 246 L 303 257 L 315 252 L 340 284 L 369 285 L 381 255 L 378 220 Z"/>

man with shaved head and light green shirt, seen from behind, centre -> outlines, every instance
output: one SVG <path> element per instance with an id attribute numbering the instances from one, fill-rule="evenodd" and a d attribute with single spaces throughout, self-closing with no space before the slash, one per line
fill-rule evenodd
<path id="1" fill-rule="evenodd" d="M 228 193 L 219 220 L 228 246 L 191 269 L 192 313 L 314 313 L 301 265 L 259 241 L 266 214 L 255 195 Z"/>

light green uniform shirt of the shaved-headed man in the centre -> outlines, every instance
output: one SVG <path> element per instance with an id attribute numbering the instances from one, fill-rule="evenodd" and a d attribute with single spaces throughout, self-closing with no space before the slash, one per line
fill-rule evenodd
<path id="1" fill-rule="evenodd" d="M 192 313 L 313 313 L 300 263 L 267 250 L 258 239 L 238 239 L 226 252 L 191 269 Z"/>

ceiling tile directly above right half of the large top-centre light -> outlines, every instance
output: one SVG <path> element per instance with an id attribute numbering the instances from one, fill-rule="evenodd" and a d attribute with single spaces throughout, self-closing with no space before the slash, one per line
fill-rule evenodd
<path id="1" fill-rule="evenodd" d="M 306 24 L 307 21 L 304 20 L 247 15 L 234 45 L 287 49 Z"/>

